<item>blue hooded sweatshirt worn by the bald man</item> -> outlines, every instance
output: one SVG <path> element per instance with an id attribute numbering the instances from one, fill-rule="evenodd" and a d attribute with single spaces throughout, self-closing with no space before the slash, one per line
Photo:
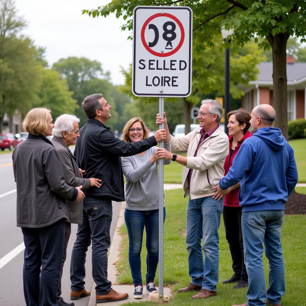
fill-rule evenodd
<path id="1" fill-rule="evenodd" d="M 219 186 L 227 189 L 240 181 L 242 212 L 284 210 L 297 179 L 292 147 L 280 129 L 265 127 L 244 140 Z"/>

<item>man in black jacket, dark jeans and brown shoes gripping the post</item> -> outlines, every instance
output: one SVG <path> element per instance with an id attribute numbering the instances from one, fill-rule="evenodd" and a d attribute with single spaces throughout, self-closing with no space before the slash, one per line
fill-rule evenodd
<path id="1" fill-rule="evenodd" d="M 84 288 L 85 257 L 92 239 L 92 277 L 96 283 L 96 303 L 119 301 L 128 298 L 127 293 L 118 293 L 107 279 L 107 250 L 110 247 L 110 223 L 112 201 L 124 201 L 124 181 L 120 156 L 131 156 L 146 151 L 166 138 L 164 129 L 142 141 L 127 143 L 114 136 L 105 125 L 111 117 L 111 106 L 102 94 L 93 94 L 82 102 L 88 117 L 80 129 L 74 154 L 85 178 L 99 177 L 100 188 L 86 189 L 83 204 L 83 224 L 78 226 L 76 241 L 71 255 L 70 299 L 88 296 Z"/>

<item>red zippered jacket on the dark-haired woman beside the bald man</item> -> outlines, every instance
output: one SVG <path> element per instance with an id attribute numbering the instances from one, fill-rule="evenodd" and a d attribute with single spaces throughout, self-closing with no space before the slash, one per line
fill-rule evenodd
<path id="1" fill-rule="evenodd" d="M 230 148 L 229 148 L 229 155 L 226 156 L 225 162 L 224 162 L 224 175 L 226 175 L 229 172 L 230 167 L 233 165 L 233 160 L 235 156 L 237 155 L 241 144 L 246 140 L 247 138 L 251 137 L 252 134 L 249 131 L 246 131 L 246 133 L 243 135 L 241 140 L 237 142 L 237 146 L 235 147 L 234 153 L 230 159 L 230 152 L 231 152 L 231 147 L 232 147 L 232 142 L 233 142 L 233 137 L 229 136 L 229 141 L 230 141 Z M 240 207 L 239 205 L 239 187 L 230 191 L 228 194 L 224 196 L 224 206 L 231 206 L 231 207 Z"/>

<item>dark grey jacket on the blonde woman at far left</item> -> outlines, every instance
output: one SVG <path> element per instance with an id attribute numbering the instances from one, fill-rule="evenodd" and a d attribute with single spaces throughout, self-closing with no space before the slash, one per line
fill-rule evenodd
<path id="1" fill-rule="evenodd" d="M 66 200 L 76 200 L 77 189 L 65 183 L 58 153 L 43 135 L 29 134 L 13 151 L 17 183 L 17 226 L 45 227 L 68 220 Z"/>

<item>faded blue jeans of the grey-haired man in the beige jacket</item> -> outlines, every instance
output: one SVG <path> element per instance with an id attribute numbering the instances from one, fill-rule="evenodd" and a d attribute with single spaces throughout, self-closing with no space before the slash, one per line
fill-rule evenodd
<path id="1" fill-rule="evenodd" d="M 217 201 L 212 196 L 189 199 L 187 205 L 186 244 L 189 275 L 192 284 L 209 291 L 217 290 L 219 278 L 218 228 L 222 211 L 223 198 Z"/>

